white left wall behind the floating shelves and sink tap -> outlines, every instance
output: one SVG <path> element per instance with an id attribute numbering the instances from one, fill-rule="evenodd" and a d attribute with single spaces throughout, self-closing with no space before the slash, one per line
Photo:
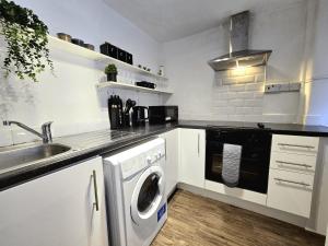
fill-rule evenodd
<path id="1" fill-rule="evenodd" d="M 133 54 L 134 65 L 142 63 L 153 71 L 159 69 L 161 45 L 108 8 L 103 0 L 15 2 L 32 9 L 54 36 L 58 32 L 68 33 L 93 44 L 96 49 L 107 40 Z M 13 77 L 9 80 L 1 78 L 1 120 L 19 120 L 37 129 L 43 122 L 54 120 L 55 136 L 60 136 L 108 128 L 106 99 L 113 93 L 122 95 L 125 99 L 137 99 L 140 105 L 162 103 L 159 95 L 118 90 L 97 91 L 95 84 L 103 79 L 105 65 L 63 54 L 55 47 L 50 47 L 50 50 L 55 77 L 46 71 L 40 74 L 38 83 L 20 81 Z M 125 75 L 125 71 L 119 73 Z M 1 128 L 0 144 L 5 144 L 10 139 L 9 128 Z M 14 133 L 15 142 L 24 140 L 22 131 Z"/>

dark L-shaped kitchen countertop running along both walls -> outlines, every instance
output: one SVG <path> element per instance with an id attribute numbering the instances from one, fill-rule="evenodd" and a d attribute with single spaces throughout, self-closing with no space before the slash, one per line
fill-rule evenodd
<path id="1" fill-rule="evenodd" d="M 54 141 L 55 143 L 70 145 L 72 150 L 33 165 L 27 164 L 9 171 L 4 169 L 4 172 L 0 171 L 0 189 L 10 188 L 67 166 L 74 165 L 96 155 L 109 154 L 113 151 L 144 141 L 153 136 L 161 134 L 177 127 L 194 129 L 257 128 L 257 124 L 238 121 L 180 120 L 176 124 L 156 126 L 147 125 L 144 127 L 122 129 L 121 132 L 124 133 L 121 136 L 116 136 L 115 139 L 112 138 L 112 131 L 109 129 L 56 138 Z M 272 133 L 328 137 L 328 128 L 321 126 L 265 124 L 265 127 L 266 130 Z M 130 134 L 127 134 L 127 132 Z"/>

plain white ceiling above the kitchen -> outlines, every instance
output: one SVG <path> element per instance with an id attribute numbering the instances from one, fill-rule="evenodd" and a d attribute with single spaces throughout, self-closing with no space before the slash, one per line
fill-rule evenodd
<path id="1" fill-rule="evenodd" d="M 159 42 L 169 42 L 212 27 L 231 14 L 268 4 L 302 0 L 104 0 Z"/>

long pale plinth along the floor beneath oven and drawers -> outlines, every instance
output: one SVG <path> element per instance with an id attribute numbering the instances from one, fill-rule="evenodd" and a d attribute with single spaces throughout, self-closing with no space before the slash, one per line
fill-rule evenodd
<path id="1" fill-rule="evenodd" d="M 249 210 L 249 211 L 253 211 L 253 212 L 256 212 L 256 213 L 269 216 L 269 218 L 273 218 L 273 219 L 277 219 L 277 220 L 293 224 L 293 225 L 297 225 L 300 227 L 303 227 L 307 231 L 313 232 L 313 230 L 309 230 L 306 227 L 307 219 L 302 218 L 302 216 L 293 215 L 293 214 L 290 214 L 290 213 L 286 213 L 283 211 L 274 210 L 274 209 L 261 206 L 261 204 L 257 204 L 257 203 L 254 203 L 250 201 L 241 200 L 235 197 L 213 192 L 211 190 L 198 188 L 198 187 L 190 186 L 190 185 L 187 185 L 184 183 L 179 183 L 177 185 L 177 187 L 179 189 L 184 189 L 184 190 L 190 191 L 192 194 L 196 194 L 196 195 L 199 195 L 202 197 L 207 197 L 207 198 L 218 200 L 218 201 L 231 204 L 231 206 L 246 209 L 246 210 Z"/>

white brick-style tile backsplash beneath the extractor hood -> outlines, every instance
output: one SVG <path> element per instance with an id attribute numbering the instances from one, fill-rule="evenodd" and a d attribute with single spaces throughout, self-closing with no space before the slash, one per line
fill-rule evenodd
<path id="1" fill-rule="evenodd" d="M 212 92 L 214 120 L 294 121 L 295 115 L 263 112 L 265 84 L 266 67 L 216 72 Z"/>

